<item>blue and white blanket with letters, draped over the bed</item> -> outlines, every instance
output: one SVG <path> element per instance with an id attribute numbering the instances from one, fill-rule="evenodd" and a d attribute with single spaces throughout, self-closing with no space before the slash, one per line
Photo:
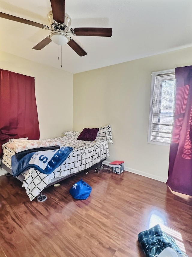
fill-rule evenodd
<path id="1" fill-rule="evenodd" d="M 35 168 L 44 174 L 50 174 L 67 159 L 72 151 L 73 147 L 62 146 L 58 150 L 28 153 L 21 159 L 13 155 L 11 158 L 13 177 L 19 176 L 29 168 Z"/>

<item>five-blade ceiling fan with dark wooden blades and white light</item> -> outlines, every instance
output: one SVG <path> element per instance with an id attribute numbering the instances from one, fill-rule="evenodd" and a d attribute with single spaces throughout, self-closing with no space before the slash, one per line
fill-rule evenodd
<path id="1" fill-rule="evenodd" d="M 19 18 L 10 14 L 0 12 L 0 17 L 8 20 L 21 22 L 24 24 L 39 27 L 45 30 L 51 30 L 49 36 L 33 47 L 35 50 L 41 50 L 50 42 L 57 45 L 69 45 L 78 55 L 87 55 L 84 49 L 77 44 L 71 37 L 73 36 L 112 36 L 112 28 L 71 28 L 71 18 L 65 13 L 65 0 L 50 0 L 52 11 L 48 13 L 48 20 L 51 29 L 43 24 Z"/>

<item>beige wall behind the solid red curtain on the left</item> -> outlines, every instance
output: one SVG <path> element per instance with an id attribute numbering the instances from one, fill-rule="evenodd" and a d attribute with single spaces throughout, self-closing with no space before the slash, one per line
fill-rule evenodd
<path id="1" fill-rule="evenodd" d="M 40 139 L 72 129 L 73 74 L 1 51 L 0 68 L 35 77 Z"/>

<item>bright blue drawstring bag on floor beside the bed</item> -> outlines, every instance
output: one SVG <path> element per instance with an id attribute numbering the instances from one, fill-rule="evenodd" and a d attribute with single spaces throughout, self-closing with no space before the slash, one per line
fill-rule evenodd
<path id="1" fill-rule="evenodd" d="M 69 193 L 75 199 L 85 200 L 90 195 L 91 190 L 91 186 L 81 179 L 70 188 Z"/>

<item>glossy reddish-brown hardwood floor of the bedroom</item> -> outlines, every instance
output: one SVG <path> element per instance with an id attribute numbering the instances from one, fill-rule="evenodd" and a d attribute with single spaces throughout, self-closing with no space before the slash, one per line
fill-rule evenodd
<path id="1" fill-rule="evenodd" d="M 16 178 L 1 176 L 0 257 L 145 257 L 137 234 L 156 224 L 192 256 L 191 198 L 126 171 L 87 171 L 46 188 L 43 203 L 30 202 Z M 69 189 L 81 178 L 92 192 L 75 200 Z"/>

